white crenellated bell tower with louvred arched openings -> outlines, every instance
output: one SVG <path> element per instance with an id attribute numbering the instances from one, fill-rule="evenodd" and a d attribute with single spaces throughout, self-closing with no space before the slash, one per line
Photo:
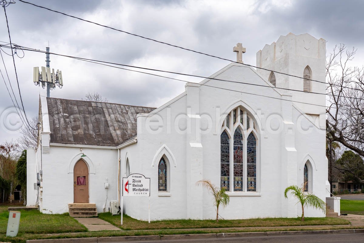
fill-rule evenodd
<path id="1" fill-rule="evenodd" d="M 293 103 L 320 127 L 325 127 L 325 65 L 326 41 L 309 34 L 280 36 L 257 52 L 257 67 L 273 70 L 257 72 L 273 86 L 290 89 L 277 91 L 292 94 Z"/>

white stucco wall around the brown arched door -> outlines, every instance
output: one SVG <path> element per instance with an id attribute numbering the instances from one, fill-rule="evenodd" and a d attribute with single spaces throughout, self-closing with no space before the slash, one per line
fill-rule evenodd
<path id="1" fill-rule="evenodd" d="M 107 190 L 106 211 L 110 200 L 118 200 L 118 152 L 116 149 L 90 149 L 50 146 L 50 153 L 43 154 L 42 190 L 44 213 L 68 212 L 68 203 L 74 202 L 73 167 L 81 159 L 83 148 L 84 161 L 89 168 L 90 203 L 96 203 L 97 211 L 103 212 L 106 200 L 104 183 L 109 183 Z"/>

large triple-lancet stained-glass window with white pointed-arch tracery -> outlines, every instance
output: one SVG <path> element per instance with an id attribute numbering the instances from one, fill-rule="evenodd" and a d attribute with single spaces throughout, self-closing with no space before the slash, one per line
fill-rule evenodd
<path id="1" fill-rule="evenodd" d="M 227 114 L 222 124 L 220 176 L 221 188 L 226 191 L 257 191 L 256 128 L 256 121 L 242 107 Z"/>

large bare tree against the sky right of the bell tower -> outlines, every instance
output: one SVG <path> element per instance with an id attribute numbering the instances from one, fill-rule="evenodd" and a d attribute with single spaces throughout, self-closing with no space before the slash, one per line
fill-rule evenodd
<path id="1" fill-rule="evenodd" d="M 352 67 L 356 49 L 344 44 L 333 49 L 326 66 L 329 106 L 327 139 L 364 156 L 364 68 Z"/>

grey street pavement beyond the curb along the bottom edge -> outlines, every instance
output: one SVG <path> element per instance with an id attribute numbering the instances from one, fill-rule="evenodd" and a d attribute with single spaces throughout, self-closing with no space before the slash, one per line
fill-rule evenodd
<path id="1" fill-rule="evenodd" d="M 128 242 L 128 241 L 123 241 Z M 135 241 L 131 241 L 135 242 Z M 143 243 L 161 242 L 155 241 L 143 241 Z M 243 242 L 269 242 L 269 243 L 281 243 L 281 242 L 294 242 L 294 243 L 363 243 L 364 233 L 356 234 L 329 234 L 329 235 L 280 235 L 280 236 L 257 236 L 257 237 L 239 237 L 239 238 L 225 238 L 225 239 L 188 239 L 188 240 L 165 240 L 164 242 L 181 242 L 181 243 L 243 243 Z"/>

